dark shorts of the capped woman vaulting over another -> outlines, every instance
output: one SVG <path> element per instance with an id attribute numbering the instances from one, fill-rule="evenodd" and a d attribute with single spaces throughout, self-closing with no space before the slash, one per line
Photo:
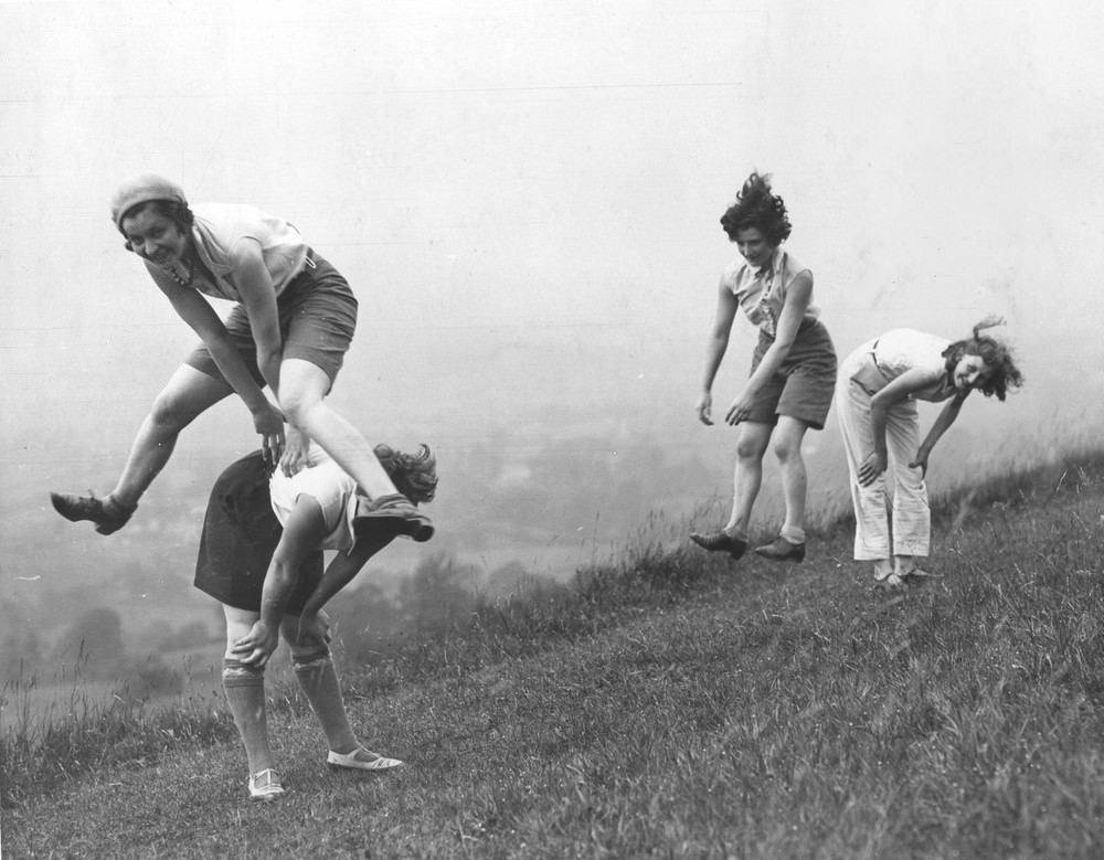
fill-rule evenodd
<path id="1" fill-rule="evenodd" d="M 314 267 L 308 264 L 276 297 L 283 354 L 285 359 L 302 359 L 321 368 L 332 386 L 357 330 L 357 297 L 341 273 L 318 254 L 309 252 L 308 259 Z M 225 325 L 245 367 L 264 387 L 266 383 L 257 367 L 257 344 L 245 306 L 236 305 Z M 223 378 L 202 343 L 184 363 L 208 376 Z"/>

